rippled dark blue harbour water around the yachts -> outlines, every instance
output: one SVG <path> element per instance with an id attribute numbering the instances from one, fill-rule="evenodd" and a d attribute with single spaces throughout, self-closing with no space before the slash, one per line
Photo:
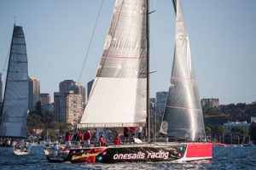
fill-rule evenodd
<path id="1" fill-rule="evenodd" d="M 27 156 L 15 156 L 12 148 L 0 148 L 0 169 L 256 169 L 256 147 L 214 146 L 212 161 L 129 162 L 119 164 L 49 163 L 42 146 L 33 146 Z"/>

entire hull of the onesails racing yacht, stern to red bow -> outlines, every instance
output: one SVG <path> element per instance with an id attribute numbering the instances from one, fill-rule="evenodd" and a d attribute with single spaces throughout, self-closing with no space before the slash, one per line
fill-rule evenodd
<path id="1" fill-rule="evenodd" d="M 108 147 L 72 148 L 59 151 L 44 148 L 48 161 L 73 163 L 118 163 L 144 161 L 212 160 L 212 143 L 131 144 Z"/>

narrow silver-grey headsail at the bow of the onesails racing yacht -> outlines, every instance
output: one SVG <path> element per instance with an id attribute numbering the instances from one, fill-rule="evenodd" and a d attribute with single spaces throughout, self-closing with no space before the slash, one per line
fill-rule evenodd
<path id="1" fill-rule="evenodd" d="M 192 67 L 189 37 L 180 0 L 173 0 L 176 12 L 176 41 L 166 111 L 160 132 L 179 139 L 204 139 L 201 102 Z"/>

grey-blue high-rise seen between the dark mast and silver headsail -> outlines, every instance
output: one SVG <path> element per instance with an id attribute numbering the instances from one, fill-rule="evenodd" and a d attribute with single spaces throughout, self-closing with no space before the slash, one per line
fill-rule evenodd
<path id="1" fill-rule="evenodd" d="M 163 114 L 166 108 L 168 92 L 157 92 L 155 101 L 155 111 L 157 114 Z"/>

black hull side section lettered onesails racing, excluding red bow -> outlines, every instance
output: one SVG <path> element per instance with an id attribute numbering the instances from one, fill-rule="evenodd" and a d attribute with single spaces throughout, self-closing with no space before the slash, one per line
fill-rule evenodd
<path id="1" fill-rule="evenodd" d="M 133 161 L 175 161 L 181 159 L 186 150 L 186 144 L 175 146 L 117 146 L 72 149 L 67 156 L 71 162 L 133 162 Z"/>

